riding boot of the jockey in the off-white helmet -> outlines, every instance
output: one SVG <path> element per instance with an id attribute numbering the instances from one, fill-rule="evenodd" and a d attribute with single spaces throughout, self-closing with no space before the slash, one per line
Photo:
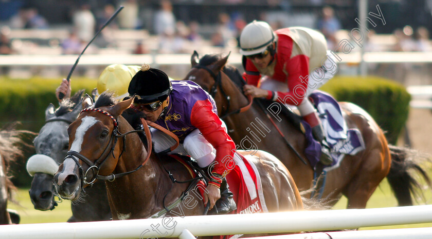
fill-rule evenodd
<path id="1" fill-rule="evenodd" d="M 322 128 L 321 120 L 318 117 L 318 113 L 310 113 L 303 116 L 303 119 L 312 126 L 312 135 L 315 140 L 321 144 L 321 156 L 319 162 L 323 165 L 331 165 L 333 163 L 333 158 L 330 155 L 330 147 L 327 144 L 326 136 L 324 135 L 324 130 Z"/>

